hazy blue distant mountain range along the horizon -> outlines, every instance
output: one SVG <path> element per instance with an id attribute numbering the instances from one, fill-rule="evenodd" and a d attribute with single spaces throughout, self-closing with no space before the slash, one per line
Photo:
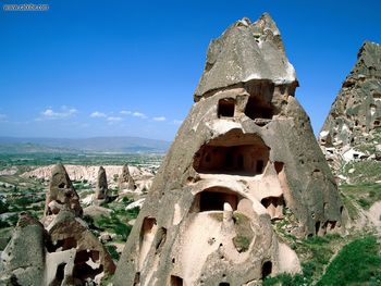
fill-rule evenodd
<path id="1" fill-rule="evenodd" d="M 171 142 L 139 137 L 69 138 L 19 138 L 0 137 L 1 153 L 32 152 L 112 152 L 112 153 L 162 153 Z"/>

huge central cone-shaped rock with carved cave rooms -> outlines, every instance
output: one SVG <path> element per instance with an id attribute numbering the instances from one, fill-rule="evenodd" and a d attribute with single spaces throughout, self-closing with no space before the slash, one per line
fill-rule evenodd
<path id="1" fill-rule="evenodd" d="M 155 177 L 114 285 L 255 285 L 298 272 L 272 221 L 298 237 L 343 228 L 343 204 L 275 23 L 211 41 L 193 105 Z"/>

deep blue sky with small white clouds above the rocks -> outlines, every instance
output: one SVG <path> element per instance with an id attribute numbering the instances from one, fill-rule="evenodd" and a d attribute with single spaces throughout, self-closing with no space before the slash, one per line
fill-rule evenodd
<path id="1" fill-rule="evenodd" d="M 282 33 L 317 133 L 362 41 L 381 42 L 380 0 L 27 2 L 50 9 L 0 12 L 0 136 L 172 140 L 209 41 L 263 12 Z"/>

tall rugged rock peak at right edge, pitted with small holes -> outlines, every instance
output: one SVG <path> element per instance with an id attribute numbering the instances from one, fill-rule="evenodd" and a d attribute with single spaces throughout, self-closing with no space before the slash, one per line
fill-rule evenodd
<path id="1" fill-rule="evenodd" d="M 381 46 L 366 41 L 319 135 L 335 173 L 351 160 L 381 160 Z"/>

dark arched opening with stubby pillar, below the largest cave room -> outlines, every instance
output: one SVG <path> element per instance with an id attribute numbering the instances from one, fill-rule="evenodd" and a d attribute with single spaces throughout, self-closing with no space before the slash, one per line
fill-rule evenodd
<path id="1" fill-rule="evenodd" d="M 211 187 L 195 197 L 193 204 L 194 212 L 223 211 L 223 204 L 228 202 L 233 210 L 237 209 L 241 197 L 223 187 Z"/>

